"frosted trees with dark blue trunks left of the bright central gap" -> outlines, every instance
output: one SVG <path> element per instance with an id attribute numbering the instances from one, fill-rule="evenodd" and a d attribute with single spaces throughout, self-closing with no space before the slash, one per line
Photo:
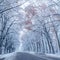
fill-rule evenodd
<path id="1" fill-rule="evenodd" d="M 19 45 L 20 23 L 16 10 L 20 5 L 15 6 L 15 3 L 15 0 L 1 0 L 0 2 L 0 54 L 11 53 Z"/>

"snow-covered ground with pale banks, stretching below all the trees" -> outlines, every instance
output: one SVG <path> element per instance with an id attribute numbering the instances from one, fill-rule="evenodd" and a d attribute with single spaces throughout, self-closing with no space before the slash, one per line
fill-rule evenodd
<path id="1" fill-rule="evenodd" d="M 13 52 L 0 55 L 0 60 L 60 60 L 57 54 L 35 54 L 34 52 Z"/>

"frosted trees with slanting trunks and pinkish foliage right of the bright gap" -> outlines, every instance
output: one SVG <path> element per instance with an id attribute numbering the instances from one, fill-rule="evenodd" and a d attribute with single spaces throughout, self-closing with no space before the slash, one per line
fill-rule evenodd
<path id="1" fill-rule="evenodd" d="M 52 3 L 45 4 L 39 1 L 40 5 L 37 6 L 34 2 L 25 8 L 27 25 L 24 29 L 27 33 L 24 32 L 25 35 L 22 36 L 23 51 L 59 53 L 60 1 L 50 0 L 49 2 Z"/>

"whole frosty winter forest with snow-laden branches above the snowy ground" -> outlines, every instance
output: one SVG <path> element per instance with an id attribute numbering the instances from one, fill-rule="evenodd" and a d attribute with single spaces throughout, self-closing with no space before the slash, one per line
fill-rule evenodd
<path id="1" fill-rule="evenodd" d="M 60 0 L 0 0 L 0 54 L 15 51 L 60 53 Z"/>

